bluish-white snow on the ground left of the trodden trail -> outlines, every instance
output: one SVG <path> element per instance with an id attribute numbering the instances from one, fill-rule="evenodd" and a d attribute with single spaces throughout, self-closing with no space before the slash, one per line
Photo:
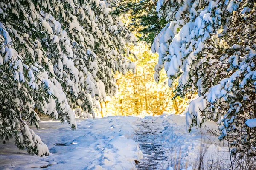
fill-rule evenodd
<path id="1" fill-rule="evenodd" d="M 41 129 L 34 131 L 49 147 L 49 156 L 27 154 L 10 141 L 0 144 L 0 169 L 134 169 L 139 148 L 130 138 L 137 129 L 134 122 L 138 119 L 119 116 L 78 119 L 75 131 L 67 123 L 41 121 Z"/>

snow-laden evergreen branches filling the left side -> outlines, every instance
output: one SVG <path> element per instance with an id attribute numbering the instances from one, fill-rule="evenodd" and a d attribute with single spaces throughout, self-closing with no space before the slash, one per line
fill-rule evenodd
<path id="1" fill-rule="evenodd" d="M 38 113 L 67 121 L 116 92 L 114 73 L 135 69 L 125 57 L 136 38 L 108 0 L 0 2 L 0 138 L 39 156 L 47 146 L 29 125 Z M 27 125 L 29 123 L 29 125 Z"/>

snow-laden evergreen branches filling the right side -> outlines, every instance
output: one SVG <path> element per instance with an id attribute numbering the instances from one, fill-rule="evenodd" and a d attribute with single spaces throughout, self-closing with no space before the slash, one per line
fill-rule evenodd
<path id="1" fill-rule="evenodd" d="M 219 124 L 231 153 L 256 156 L 256 4 L 254 0 L 158 0 L 168 23 L 154 39 L 176 96 L 198 92 L 186 115 L 189 130 L 206 120 Z"/>

